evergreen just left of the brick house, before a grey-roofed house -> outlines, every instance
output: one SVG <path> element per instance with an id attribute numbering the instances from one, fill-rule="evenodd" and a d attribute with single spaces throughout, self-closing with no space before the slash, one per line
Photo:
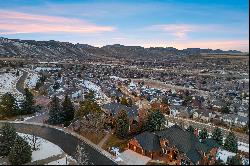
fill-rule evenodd
<path id="1" fill-rule="evenodd" d="M 121 110 L 117 116 L 115 133 L 120 138 L 125 138 L 129 133 L 129 119 L 125 110 Z"/>

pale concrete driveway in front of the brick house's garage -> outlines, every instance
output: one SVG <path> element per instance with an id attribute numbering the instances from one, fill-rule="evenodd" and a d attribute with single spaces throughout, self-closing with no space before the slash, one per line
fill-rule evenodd
<path id="1" fill-rule="evenodd" d="M 122 152 L 119 157 L 127 165 L 146 165 L 151 160 L 151 158 L 140 155 L 132 150 Z"/>

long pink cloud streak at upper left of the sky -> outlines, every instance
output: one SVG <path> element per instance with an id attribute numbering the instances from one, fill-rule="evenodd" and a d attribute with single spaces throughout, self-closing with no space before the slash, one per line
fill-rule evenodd
<path id="1" fill-rule="evenodd" d="M 111 26 L 99 26 L 80 19 L 33 15 L 0 10 L 0 34 L 17 33 L 102 33 L 111 32 Z"/>

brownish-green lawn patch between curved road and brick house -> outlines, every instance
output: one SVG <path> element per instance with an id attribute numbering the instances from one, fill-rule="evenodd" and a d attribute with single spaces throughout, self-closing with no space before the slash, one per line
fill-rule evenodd
<path id="1" fill-rule="evenodd" d="M 118 147 L 121 151 L 124 151 L 127 147 L 128 141 L 128 139 L 121 139 L 112 134 L 102 148 L 108 150 L 109 147 Z"/>

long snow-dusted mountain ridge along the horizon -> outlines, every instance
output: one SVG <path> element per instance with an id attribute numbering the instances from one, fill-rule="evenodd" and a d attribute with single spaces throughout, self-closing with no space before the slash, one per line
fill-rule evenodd
<path id="1" fill-rule="evenodd" d="M 72 44 L 60 41 L 19 40 L 0 37 L 0 57 L 20 57 L 38 59 L 161 59 L 168 56 L 199 55 L 200 53 L 242 53 L 237 50 L 187 48 L 178 50 L 173 47 L 124 46 L 120 44 L 94 47 L 88 44 Z"/>

